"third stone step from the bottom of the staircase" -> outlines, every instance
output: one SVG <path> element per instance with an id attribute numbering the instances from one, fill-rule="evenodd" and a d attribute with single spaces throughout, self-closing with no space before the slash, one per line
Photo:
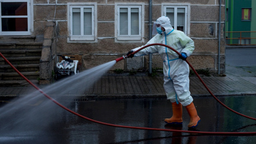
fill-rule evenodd
<path id="1" fill-rule="evenodd" d="M 22 64 L 22 65 L 13 65 L 20 72 L 25 71 L 39 71 L 39 62 L 36 64 Z M 9 73 L 14 72 L 15 70 L 10 65 L 0 65 L 0 73 Z"/>

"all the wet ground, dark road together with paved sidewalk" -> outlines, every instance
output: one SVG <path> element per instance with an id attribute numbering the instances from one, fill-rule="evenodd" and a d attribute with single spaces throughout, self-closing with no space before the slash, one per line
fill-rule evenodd
<path id="1" fill-rule="evenodd" d="M 254 51 L 254 50 L 252 50 Z M 251 55 L 252 52 L 250 52 Z M 226 57 L 245 58 L 226 54 Z M 245 55 L 248 57 L 248 55 Z M 252 60 L 251 60 L 252 61 Z M 256 70 L 227 61 L 226 77 L 202 77 L 228 107 L 256 117 Z M 96 124 L 61 109 L 43 95 L 26 98 L 34 87 L 0 87 L 0 143 L 256 143 L 254 136 L 203 135 L 123 129 Z M 196 131 L 255 132 L 256 122 L 231 113 L 207 92 L 197 77 L 190 77 L 190 92 L 201 123 Z M 67 94 L 58 101 L 75 112 L 111 124 L 188 130 L 183 108 L 182 127 L 167 126 L 172 115 L 163 77 L 103 76 L 83 94 Z M 50 96 L 55 96 L 54 94 Z M 71 96 L 71 97 L 70 97 Z M 76 96 L 74 98 L 74 96 Z M 17 101 L 7 100 L 16 98 Z"/>

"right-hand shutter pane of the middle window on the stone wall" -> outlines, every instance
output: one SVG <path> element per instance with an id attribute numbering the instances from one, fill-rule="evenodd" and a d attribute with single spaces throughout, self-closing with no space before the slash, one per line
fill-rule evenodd
<path id="1" fill-rule="evenodd" d="M 131 9 L 131 35 L 139 35 L 139 9 Z"/>

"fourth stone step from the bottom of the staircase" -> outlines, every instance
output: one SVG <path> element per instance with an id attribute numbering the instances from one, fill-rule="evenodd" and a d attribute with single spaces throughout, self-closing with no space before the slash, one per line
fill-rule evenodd
<path id="1" fill-rule="evenodd" d="M 20 65 L 39 63 L 41 57 L 7 57 L 6 59 L 10 61 L 12 65 Z M 0 65 L 7 65 L 6 61 L 3 58 L 0 58 Z"/>

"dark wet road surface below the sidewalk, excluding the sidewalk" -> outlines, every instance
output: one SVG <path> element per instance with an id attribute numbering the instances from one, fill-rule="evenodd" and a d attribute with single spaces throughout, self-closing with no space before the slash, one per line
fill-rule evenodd
<path id="1" fill-rule="evenodd" d="M 219 97 L 239 113 L 256 117 L 255 95 Z M 38 103 L 38 101 L 41 101 Z M 77 117 L 38 98 L 22 109 L 0 118 L 0 143 L 255 143 L 254 136 L 205 135 L 123 129 L 105 126 Z M 66 103 L 65 101 L 61 101 Z M 45 105 L 46 103 L 46 105 Z M 211 97 L 196 97 L 194 103 L 201 123 L 195 131 L 254 132 L 255 121 L 223 108 Z M 207 103 L 207 104 L 206 104 Z M 9 104 L 12 104 L 10 102 Z M 31 105 L 33 104 L 33 105 Z M 2 106 L 6 105 L 2 103 Z M 47 106 L 47 108 L 45 108 Z M 162 98 L 94 99 L 72 101 L 68 108 L 97 121 L 159 129 L 188 130 L 189 116 L 183 107 L 183 125 L 169 126 L 171 102 Z M 35 110 L 36 113 L 33 113 Z M 4 128 L 3 128 L 4 127 Z"/>

